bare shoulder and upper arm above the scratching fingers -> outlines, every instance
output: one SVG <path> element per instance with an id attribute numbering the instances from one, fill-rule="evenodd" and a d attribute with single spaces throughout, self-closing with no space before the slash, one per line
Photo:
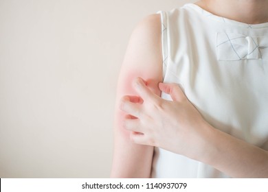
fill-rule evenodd
<path id="1" fill-rule="evenodd" d="M 131 34 L 120 71 L 119 90 L 134 94 L 131 82 L 135 77 L 152 80 L 157 90 L 162 80 L 162 63 L 161 16 L 152 14 L 142 19 Z"/>

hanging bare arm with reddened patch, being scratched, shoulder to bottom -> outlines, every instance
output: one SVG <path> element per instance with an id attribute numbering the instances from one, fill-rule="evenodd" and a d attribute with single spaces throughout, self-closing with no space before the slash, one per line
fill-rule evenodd
<path id="1" fill-rule="evenodd" d="M 150 15 L 137 25 L 126 49 L 115 107 L 112 178 L 150 177 L 153 147 L 133 143 L 130 132 L 122 126 L 126 113 L 120 110 L 120 98 L 137 95 L 132 85 L 135 77 L 144 78 L 150 90 L 160 95 L 158 83 L 162 81 L 162 56 L 159 14 Z"/>

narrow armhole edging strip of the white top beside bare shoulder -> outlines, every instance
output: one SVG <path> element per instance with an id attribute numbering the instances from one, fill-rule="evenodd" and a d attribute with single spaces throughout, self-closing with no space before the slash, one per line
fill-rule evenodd
<path id="1" fill-rule="evenodd" d="M 163 57 L 163 79 L 166 75 L 166 68 L 168 64 L 168 22 L 166 12 L 157 12 L 161 15 L 161 47 L 162 47 L 162 57 Z"/>

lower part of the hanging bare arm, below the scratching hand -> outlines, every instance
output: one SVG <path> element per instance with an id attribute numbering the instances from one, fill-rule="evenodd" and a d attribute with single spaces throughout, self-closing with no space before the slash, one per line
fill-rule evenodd
<path id="1" fill-rule="evenodd" d="M 153 147 L 135 144 L 130 132 L 122 128 L 122 112 L 118 112 L 115 122 L 115 145 L 111 178 L 150 178 Z"/>

